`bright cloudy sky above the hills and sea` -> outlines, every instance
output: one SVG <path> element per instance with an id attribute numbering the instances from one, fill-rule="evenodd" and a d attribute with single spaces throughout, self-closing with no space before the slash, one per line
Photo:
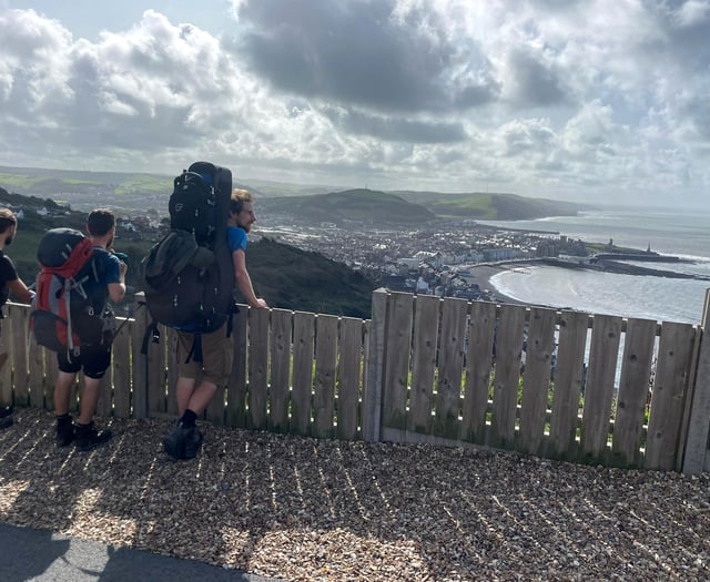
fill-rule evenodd
<path id="1" fill-rule="evenodd" d="M 0 165 L 691 207 L 710 0 L 0 0 Z"/>

